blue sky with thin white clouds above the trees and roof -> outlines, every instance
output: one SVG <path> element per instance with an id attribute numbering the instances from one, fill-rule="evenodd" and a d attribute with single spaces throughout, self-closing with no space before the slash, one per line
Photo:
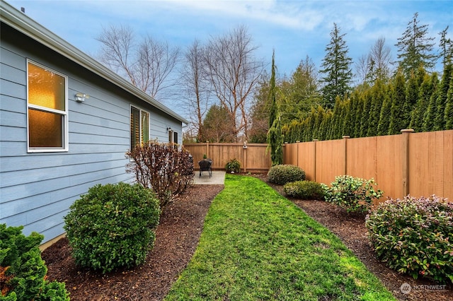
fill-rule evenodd
<path id="1" fill-rule="evenodd" d="M 195 39 L 207 42 L 245 25 L 258 49 L 256 57 L 268 64 L 275 50 L 280 76 L 290 76 L 308 56 L 321 66 L 331 40 L 333 23 L 349 48 L 352 61 L 368 54 L 384 37 L 396 60 L 395 44 L 418 13 L 435 37 L 449 25 L 453 38 L 453 0 L 6 0 L 62 39 L 93 57 L 101 43 L 96 37 L 109 25 L 129 25 L 137 37 L 151 35 L 186 49 Z M 352 66 L 353 67 L 353 66 Z M 440 67 L 439 67 L 440 68 Z M 441 70 L 439 70 L 441 71 Z"/>

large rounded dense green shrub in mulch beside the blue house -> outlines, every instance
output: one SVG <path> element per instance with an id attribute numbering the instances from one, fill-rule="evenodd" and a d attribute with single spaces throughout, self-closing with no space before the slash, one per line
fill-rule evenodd
<path id="1" fill-rule="evenodd" d="M 139 184 L 98 184 L 64 217 L 76 264 L 113 271 L 142 264 L 154 247 L 159 200 Z"/>

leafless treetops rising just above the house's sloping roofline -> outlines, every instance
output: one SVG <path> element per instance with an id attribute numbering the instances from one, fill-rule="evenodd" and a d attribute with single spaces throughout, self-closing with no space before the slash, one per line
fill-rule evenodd
<path id="1" fill-rule="evenodd" d="M 165 98 L 176 84 L 171 73 L 178 63 L 177 47 L 149 35 L 137 41 L 127 25 L 103 28 L 96 40 L 102 43 L 101 62 L 152 97 Z"/>

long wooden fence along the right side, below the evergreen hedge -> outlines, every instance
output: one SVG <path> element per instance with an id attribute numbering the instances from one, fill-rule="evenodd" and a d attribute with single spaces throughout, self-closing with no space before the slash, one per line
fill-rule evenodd
<path id="1" fill-rule="evenodd" d="M 453 130 L 285 144 L 285 164 L 330 184 L 339 175 L 374 178 L 384 196 L 436 194 L 453 201 Z"/>

